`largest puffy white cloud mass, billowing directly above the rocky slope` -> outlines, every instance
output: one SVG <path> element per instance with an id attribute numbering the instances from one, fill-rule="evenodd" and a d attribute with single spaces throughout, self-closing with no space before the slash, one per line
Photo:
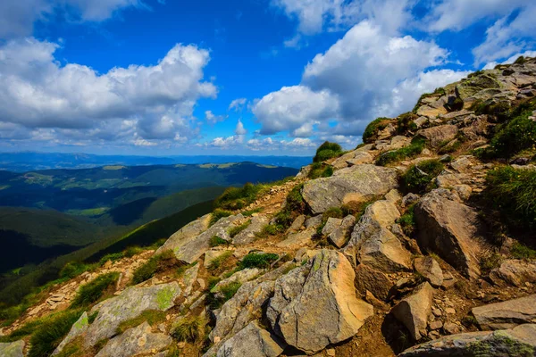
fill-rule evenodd
<path id="1" fill-rule="evenodd" d="M 370 120 L 409 110 L 423 92 L 466 75 L 434 70 L 448 51 L 413 37 L 392 37 L 362 21 L 306 65 L 302 82 L 264 95 L 253 107 L 261 134 L 358 135 Z M 337 120 L 334 127 L 326 125 Z"/>

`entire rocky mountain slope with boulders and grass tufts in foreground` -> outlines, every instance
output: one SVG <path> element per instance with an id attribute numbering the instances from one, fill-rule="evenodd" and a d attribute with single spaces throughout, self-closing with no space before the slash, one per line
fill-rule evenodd
<path id="1" fill-rule="evenodd" d="M 3 356 L 536 355 L 536 59 L 49 287 Z M 531 248 L 532 247 L 532 248 Z"/>

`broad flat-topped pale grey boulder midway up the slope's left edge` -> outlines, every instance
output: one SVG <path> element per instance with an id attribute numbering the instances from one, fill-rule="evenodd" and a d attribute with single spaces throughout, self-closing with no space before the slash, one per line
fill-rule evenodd
<path id="1" fill-rule="evenodd" d="M 335 171 L 331 178 L 307 181 L 302 195 L 316 214 L 350 201 L 368 201 L 397 186 L 397 170 L 364 164 Z"/>

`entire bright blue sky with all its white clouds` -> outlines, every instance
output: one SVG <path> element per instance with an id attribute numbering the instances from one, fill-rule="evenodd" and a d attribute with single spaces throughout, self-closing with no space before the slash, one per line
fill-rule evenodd
<path id="1" fill-rule="evenodd" d="M 536 55 L 526 0 L 4 0 L 0 151 L 307 155 Z"/>

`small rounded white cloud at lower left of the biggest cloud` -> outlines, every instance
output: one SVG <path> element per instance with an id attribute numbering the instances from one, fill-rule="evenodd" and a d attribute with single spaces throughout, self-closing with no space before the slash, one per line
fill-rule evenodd
<path id="1" fill-rule="evenodd" d="M 302 128 L 307 123 L 335 118 L 339 100 L 328 90 L 314 92 L 309 87 L 282 87 L 258 101 L 252 109 L 263 125 L 261 134 Z"/>

